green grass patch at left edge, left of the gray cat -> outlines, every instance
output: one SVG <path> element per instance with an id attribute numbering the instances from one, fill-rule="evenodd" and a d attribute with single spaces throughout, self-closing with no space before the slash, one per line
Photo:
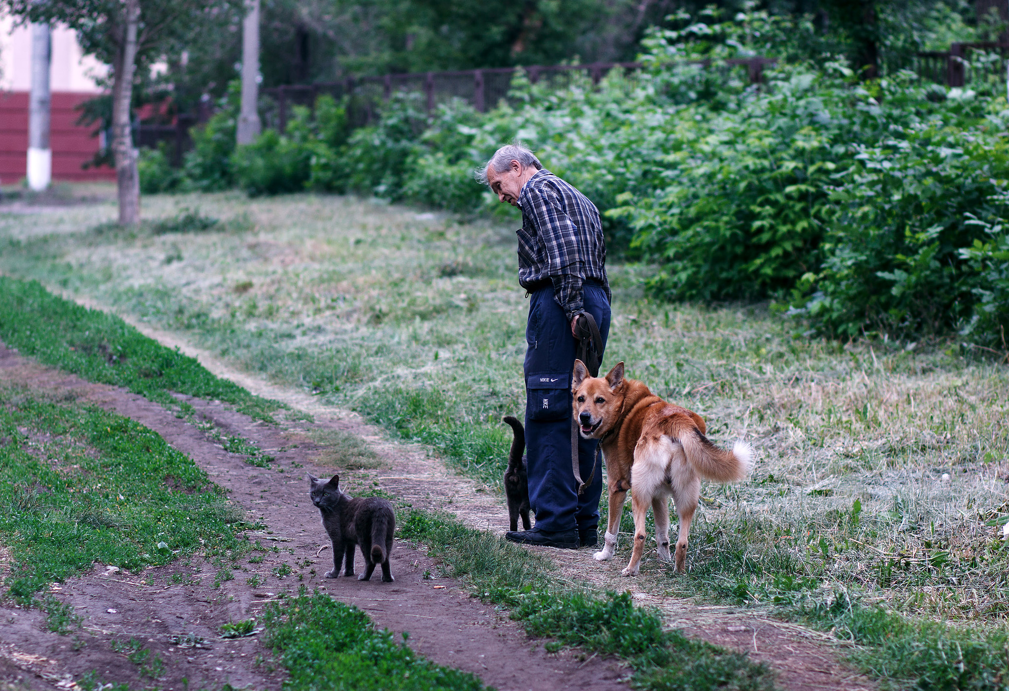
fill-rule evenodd
<path id="1" fill-rule="evenodd" d="M 0 540 L 11 550 L 4 585 L 23 603 L 96 562 L 139 571 L 248 549 L 236 537 L 244 511 L 159 435 L 25 390 L 0 389 Z M 75 623 L 59 602 L 42 604 L 51 629 Z"/>

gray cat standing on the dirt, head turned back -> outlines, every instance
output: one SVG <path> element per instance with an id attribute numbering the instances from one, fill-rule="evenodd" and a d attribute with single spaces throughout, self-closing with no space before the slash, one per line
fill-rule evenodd
<path id="1" fill-rule="evenodd" d="M 388 569 L 393 551 L 396 514 L 393 504 L 380 496 L 353 498 L 340 491 L 340 476 L 320 480 L 309 474 L 309 496 L 322 512 L 322 525 L 333 541 L 333 570 L 326 578 L 340 575 L 340 561 L 346 560 L 344 576 L 354 575 L 354 545 L 361 546 L 364 573 L 359 581 L 370 580 L 376 564 L 381 564 L 381 579 L 394 581 Z"/>

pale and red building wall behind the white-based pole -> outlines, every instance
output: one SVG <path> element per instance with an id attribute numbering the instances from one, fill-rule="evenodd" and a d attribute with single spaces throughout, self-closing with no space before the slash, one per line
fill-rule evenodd
<path id="1" fill-rule="evenodd" d="M 98 151 L 99 142 L 92 136 L 94 126 L 75 124 L 80 117 L 76 107 L 102 93 L 96 80 L 108 74 L 108 67 L 85 56 L 71 29 L 54 28 L 51 40 L 52 180 L 114 180 L 115 170 L 110 167 L 82 167 Z M 25 176 L 30 90 L 31 33 L 27 26 L 15 26 L 11 17 L 0 16 L 0 183 L 4 185 Z"/>

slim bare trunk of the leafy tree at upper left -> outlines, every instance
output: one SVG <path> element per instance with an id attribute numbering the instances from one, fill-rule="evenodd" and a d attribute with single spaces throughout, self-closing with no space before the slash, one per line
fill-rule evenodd
<path id="1" fill-rule="evenodd" d="M 119 225 L 135 226 L 140 222 L 140 176 L 138 152 L 131 136 L 133 74 L 136 71 L 136 34 L 140 23 L 140 0 L 126 0 L 123 40 L 116 51 L 112 85 L 112 152 L 116 159 L 116 185 L 119 192 Z"/>

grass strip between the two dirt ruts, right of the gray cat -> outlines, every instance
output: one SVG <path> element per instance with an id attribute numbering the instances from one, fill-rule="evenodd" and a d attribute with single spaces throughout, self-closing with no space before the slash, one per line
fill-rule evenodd
<path id="1" fill-rule="evenodd" d="M 634 670 L 638 689 L 758 690 L 774 688 L 774 675 L 745 654 L 687 639 L 663 626 L 658 612 L 635 606 L 630 592 L 599 594 L 558 585 L 552 563 L 490 533 L 450 516 L 409 509 L 400 534 L 431 547 L 445 575 L 468 581 L 474 595 L 504 605 L 527 632 L 560 646 L 615 656 Z"/>

